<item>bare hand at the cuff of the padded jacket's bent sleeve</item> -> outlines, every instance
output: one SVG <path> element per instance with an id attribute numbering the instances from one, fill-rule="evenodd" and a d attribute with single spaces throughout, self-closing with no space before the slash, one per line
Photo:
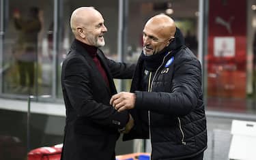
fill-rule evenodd
<path id="1" fill-rule="evenodd" d="M 129 92 L 121 92 L 113 95 L 110 99 L 110 104 L 121 112 L 122 110 L 130 110 L 134 108 L 136 95 Z"/>

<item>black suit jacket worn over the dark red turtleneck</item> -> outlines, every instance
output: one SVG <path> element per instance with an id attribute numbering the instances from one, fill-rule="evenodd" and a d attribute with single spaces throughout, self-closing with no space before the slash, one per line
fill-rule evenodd
<path id="1" fill-rule="evenodd" d="M 117 130 L 128 122 L 128 112 L 117 112 L 109 101 L 117 93 L 113 78 L 132 78 L 135 66 L 107 59 L 101 50 L 97 54 L 109 86 L 81 42 L 74 40 L 63 61 L 66 127 L 62 160 L 115 159 Z"/>

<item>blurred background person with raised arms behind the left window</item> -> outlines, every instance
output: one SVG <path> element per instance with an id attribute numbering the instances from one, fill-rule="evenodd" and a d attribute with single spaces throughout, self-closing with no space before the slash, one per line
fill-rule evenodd
<path id="1" fill-rule="evenodd" d="M 35 84 L 35 63 L 38 54 L 38 33 L 42 28 L 39 8 L 30 7 L 27 18 L 14 11 L 14 26 L 19 31 L 14 57 L 18 64 L 19 85 L 22 93 L 31 93 Z M 19 90 L 18 90 L 19 91 Z"/>

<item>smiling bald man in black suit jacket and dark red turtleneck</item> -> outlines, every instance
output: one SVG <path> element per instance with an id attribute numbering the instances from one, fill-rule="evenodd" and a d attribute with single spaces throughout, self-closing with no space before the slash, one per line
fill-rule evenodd
<path id="1" fill-rule="evenodd" d="M 109 105 L 117 93 L 113 78 L 132 78 L 134 65 L 106 58 L 107 29 L 94 7 L 79 7 L 70 18 L 74 42 L 63 61 L 61 86 L 66 105 L 62 160 L 115 160 L 119 132 L 133 125 L 127 111 Z"/>

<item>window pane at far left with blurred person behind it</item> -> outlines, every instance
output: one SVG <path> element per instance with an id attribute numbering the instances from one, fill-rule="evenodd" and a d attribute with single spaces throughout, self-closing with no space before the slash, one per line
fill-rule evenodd
<path id="1" fill-rule="evenodd" d="M 52 95 L 53 1 L 4 2 L 1 95 Z"/>

